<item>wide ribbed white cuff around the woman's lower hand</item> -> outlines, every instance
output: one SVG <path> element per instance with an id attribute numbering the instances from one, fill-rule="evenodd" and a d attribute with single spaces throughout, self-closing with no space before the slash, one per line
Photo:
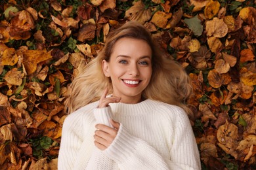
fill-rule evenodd
<path id="1" fill-rule="evenodd" d="M 120 124 L 118 133 L 112 144 L 103 152 L 116 163 L 123 163 L 135 152 L 137 138 L 133 137 L 123 124 Z"/>

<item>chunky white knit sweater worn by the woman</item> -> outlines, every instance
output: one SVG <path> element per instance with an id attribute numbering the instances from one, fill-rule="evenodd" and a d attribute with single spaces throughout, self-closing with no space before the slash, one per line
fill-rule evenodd
<path id="1" fill-rule="evenodd" d="M 70 114 L 62 127 L 58 169 L 201 169 L 188 116 L 180 107 L 146 99 L 137 104 L 98 101 Z M 94 144 L 95 124 L 120 122 L 112 144 Z"/>

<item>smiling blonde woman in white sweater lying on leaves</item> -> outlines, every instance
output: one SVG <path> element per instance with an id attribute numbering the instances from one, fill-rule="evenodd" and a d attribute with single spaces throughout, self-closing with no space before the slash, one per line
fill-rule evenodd
<path id="1" fill-rule="evenodd" d="M 70 86 L 59 169 L 201 169 L 188 75 L 158 49 L 136 22 L 108 35 Z"/>

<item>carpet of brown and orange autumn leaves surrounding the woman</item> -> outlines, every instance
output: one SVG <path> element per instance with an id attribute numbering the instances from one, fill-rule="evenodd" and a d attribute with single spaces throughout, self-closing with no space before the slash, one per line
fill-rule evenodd
<path id="1" fill-rule="evenodd" d="M 56 169 L 68 86 L 128 20 L 192 79 L 202 169 L 256 169 L 255 1 L 1 0 L 0 169 Z"/>

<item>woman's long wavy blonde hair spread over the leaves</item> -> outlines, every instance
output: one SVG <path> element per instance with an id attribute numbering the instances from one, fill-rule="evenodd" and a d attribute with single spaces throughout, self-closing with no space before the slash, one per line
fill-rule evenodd
<path id="1" fill-rule="evenodd" d="M 123 37 L 144 40 L 152 49 L 152 77 L 142 92 L 142 97 L 177 105 L 189 112 L 184 101 L 192 93 L 192 86 L 184 69 L 176 61 L 163 57 L 150 32 L 143 25 L 127 22 L 109 33 L 102 51 L 85 66 L 81 75 L 74 78 L 70 85 L 70 96 L 65 101 L 68 114 L 100 99 L 107 86 L 109 93 L 112 93 L 111 80 L 104 76 L 101 63 L 103 59 L 109 61 L 114 44 Z"/>

